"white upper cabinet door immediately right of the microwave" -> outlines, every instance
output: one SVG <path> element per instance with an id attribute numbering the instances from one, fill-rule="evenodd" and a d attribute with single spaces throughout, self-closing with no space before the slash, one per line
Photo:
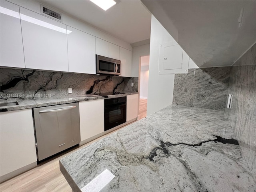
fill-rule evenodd
<path id="1" fill-rule="evenodd" d="M 120 47 L 121 75 L 123 77 L 131 76 L 132 52 Z"/>

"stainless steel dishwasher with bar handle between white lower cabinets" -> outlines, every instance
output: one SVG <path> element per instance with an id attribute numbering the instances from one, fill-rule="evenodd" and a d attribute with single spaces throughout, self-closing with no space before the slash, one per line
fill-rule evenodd
<path id="1" fill-rule="evenodd" d="M 34 108 L 38 161 L 80 143 L 78 103 Z"/>

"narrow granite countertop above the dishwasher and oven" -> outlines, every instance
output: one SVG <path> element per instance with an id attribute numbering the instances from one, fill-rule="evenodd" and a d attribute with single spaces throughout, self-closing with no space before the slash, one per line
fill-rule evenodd
<path id="1" fill-rule="evenodd" d="M 126 95 L 131 94 L 138 94 L 138 92 L 134 93 L 124 93 L 124 94 L 117 94 L 117 95 L 111 95 L 108 96 L 108 98 L 114 98 L 114 97 L 122 97 Z M 82 96 L 61 96 L 61 97 L 44 97 L 44 98 L 33 98 L 33 99 L 16 99 L 11 98 L 1 101 L 0 103 L 9 103 L 9 102 L 18 102 L 18 105 L 12 105 L 12 106 L 1 106 L 0 112 L 6 112 L 6 111 L 13 111 L 13 110 L 21 110 L 21 109 L 28 109 L 28 108 L 36 108 L 36 107 L 45 107 L 45 106 L 51 106 L 51 105 L 59 105 L 59 104 L 66 104 L 66 103 L 74 103 L 74 102 L 80 102 L 80 101 L 87 101 L 87 100 L 96 100 L 96 99 L 108 99 L 104 98 L 102 96 L 93 95 L 93 94 L 87 94 Z M 3 100 L 3 99 L 1 99 Z"/>

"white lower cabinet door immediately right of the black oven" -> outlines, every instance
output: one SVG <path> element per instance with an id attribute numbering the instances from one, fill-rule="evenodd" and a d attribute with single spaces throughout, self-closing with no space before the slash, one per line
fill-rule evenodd
<path id="1" fill-rule="evenodd" d="M 138 116 L 138 94 L 128 95 L 126 97 L 126 121 L 130 121 Z"/>

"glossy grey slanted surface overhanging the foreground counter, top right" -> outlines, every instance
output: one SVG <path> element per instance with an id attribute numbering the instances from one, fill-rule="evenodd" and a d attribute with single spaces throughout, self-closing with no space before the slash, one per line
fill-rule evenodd
<path id="1" fill-rule="evenodd" d="M 256 1 L 142 0 L 200 67 L 231 66 L 256 42 Z"/>

